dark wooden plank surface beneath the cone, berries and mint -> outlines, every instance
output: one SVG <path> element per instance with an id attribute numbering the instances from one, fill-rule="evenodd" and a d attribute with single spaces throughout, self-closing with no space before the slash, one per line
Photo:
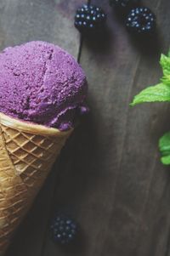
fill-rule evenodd
<path id="1" fill-rule="evenodd" d="M 91 112 L 69 139 L 8 256 L 170 256 L 170 174 L 157 140 L 170 129 L 168 104 L 129 108 L 133 95 L 161 76 L 158 60 L 170 45 L 170 1 L 145 1 L 157 16 L 150 42 L 130 37 L 108 0 L 108 34 L 82 38 L 73 16 L 82 0 L 0 0 L 0 45 L 45 40 L 79 57 L 89 83 Z M 81 43 L 82 42 L 82 43 Z M 82 233 L 69 250 L 54 245 L 55 211 L 78 220 Z"/>

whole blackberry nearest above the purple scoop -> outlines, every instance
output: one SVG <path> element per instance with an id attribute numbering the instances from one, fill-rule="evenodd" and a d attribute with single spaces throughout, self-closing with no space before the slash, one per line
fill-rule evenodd
<path id="1" fill-rule="evenodd" d="M 102 31 L 105 21 L 106 14 L 103 9 L 90 4 L 82 5 L 75 15 L 75 26 L 82 33 Z"/>

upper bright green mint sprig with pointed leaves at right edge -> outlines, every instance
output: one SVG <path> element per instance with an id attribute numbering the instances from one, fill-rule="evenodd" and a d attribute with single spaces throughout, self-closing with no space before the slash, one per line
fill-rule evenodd
<path id="1" fill-rule="evenodd" d="M 160 64 L 163 70 L 161 82 L 141 91 L 134 97 L 131 106 L 144 102 L 170 101 L 170 51 L 167 56 L 161 54 Z"/>

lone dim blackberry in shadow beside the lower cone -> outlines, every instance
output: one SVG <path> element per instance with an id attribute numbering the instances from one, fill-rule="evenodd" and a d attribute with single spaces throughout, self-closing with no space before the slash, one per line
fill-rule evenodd
<path id="1" fill-rule="evenodd" d="M 77 224 L 68 216 L 57 215 L 51 225 L 54 242 L 68 244 L 77 236 Z"/>

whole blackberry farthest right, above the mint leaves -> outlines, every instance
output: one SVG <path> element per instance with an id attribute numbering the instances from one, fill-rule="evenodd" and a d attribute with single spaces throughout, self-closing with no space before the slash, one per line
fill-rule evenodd
<path id="1" fill-rule="evenodd" d="M 156 15 L 148 8 L 132 9 L 127 15 L 126 26 L 135 34 L 149 35 L 156 27 Z"/>

